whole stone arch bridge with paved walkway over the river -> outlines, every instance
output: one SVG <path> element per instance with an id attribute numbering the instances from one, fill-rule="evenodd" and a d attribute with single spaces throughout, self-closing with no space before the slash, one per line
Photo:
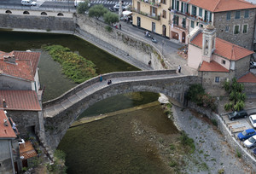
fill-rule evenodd
<path id="1" fill-rule="evenodd" d="M 163 93 L 183 103 L 189 84 L 200 82 L 197 76 L 177 74 L 175 70 L 108 73 L 79 84 L 62 96 L 44 102 L 44 128 L 47 145 L 57 148 L 61 138 L 80 113 L 96 102 L 127 92 Z M 108 85 L 108 79 L 112 84 Z"/>

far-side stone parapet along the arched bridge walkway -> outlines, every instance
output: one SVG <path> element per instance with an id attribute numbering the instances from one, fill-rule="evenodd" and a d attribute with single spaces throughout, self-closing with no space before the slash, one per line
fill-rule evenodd
<path id="1" fill-rule="evenodd" d="M 111 78 L 125 78 L 125 77 L 138 77 L 138 76 L 152 76 L 152 75 L 164 75 L 164 74 L 175 74 L 176 70 L 157 70 L 157 71 L 134 71 L 134 72 L 118 72 L 118 73 L 106 73 L 102 74 L 103 79 L 111 79 Z M 61 96 L 50 100 L 48 102 L 43 103 L 43 108 L 50 107 L 55 105 L 56 103 L 61 103 L 66 100 L 69 96 L 73 96 L 80 90 L 83 90 L 86 87 L 89 87 L 92 84 L 96 84 L 99 82 L 99 76 L 95 78 L 91 78 L 85 81 L 82 84 L 75 86 L 73 89 L 68 90 L 66 93 Z"/>

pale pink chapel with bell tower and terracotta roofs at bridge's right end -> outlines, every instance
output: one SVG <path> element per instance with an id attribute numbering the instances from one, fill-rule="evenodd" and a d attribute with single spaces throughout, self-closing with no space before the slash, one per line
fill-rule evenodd
<path id="1" fill-rule="evenodd" d="M 250 69 L 253 51 L 216 37 L 216 29 L 207 25 L 191 32 L 188 66 L 198 70 L 201 83 L 212 95 L 224 95 L 222 82 L 241 78 Z"/>

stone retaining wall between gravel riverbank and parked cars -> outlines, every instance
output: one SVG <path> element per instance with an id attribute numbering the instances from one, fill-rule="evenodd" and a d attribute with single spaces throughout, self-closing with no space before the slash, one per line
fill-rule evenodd
<path id="1" fill-rule="evenodd" d="M 221 131 L 224 139 L 229 143 L 230 148 L 238 149 L 241 152 L 241 158 L 247 165 L 250 165 L 254 171 L 256 171 L 256 160 L 255 157 L 250 154 L 246 148 L 243 148 L 239 141 L 237 141 L 235 134 L 227 128 L 224 123 L 224 119 L 216 113 L 212 113 L 210 110 L 204 107 L 198 107 L 193 102 L 189 102 L 189 108 L 195 109 L 197 112 L 206 115 L 209 119 L 215 119 L 218 122 L 218 130 Z"/>

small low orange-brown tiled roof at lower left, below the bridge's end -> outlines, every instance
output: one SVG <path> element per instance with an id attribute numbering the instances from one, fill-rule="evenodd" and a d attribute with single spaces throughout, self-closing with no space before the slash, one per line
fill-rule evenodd
<path id="1" fill-rule="evenodd" d="M 20 144 L 20 157 L 23 156 L 22 159 L 29 159 L 37 155 L 38 154 L 30 141 L 26 141 L 24 144 Z"/>

